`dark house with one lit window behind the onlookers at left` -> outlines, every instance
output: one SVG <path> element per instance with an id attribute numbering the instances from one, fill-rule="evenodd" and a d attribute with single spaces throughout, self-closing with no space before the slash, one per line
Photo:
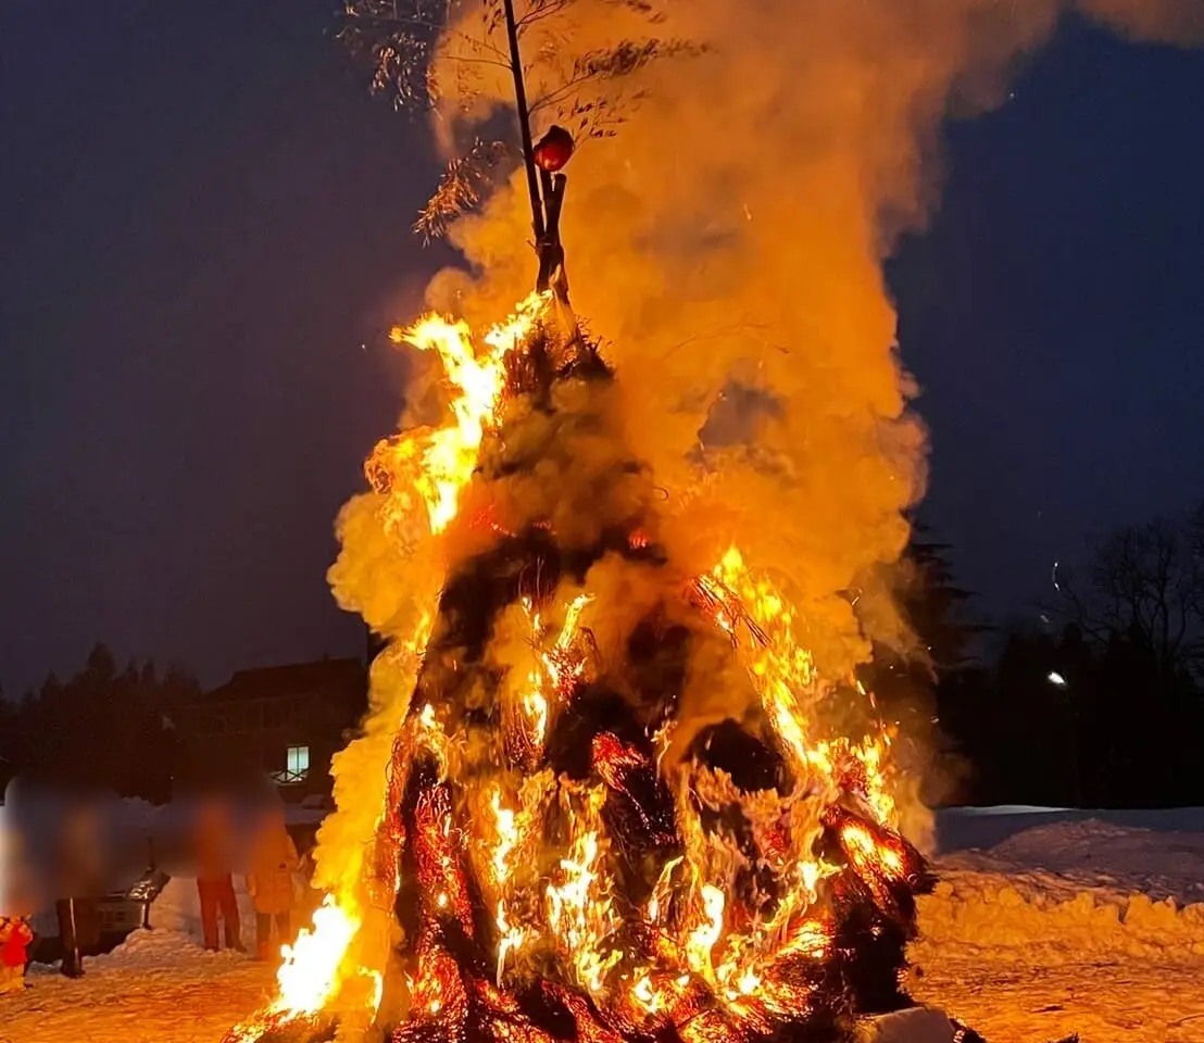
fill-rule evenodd
<path id="1" fill-rule="evenodd" d="M 330 760 L 367 709 L 359 659 L 242 670 L 178 712 L 181 783 L 261 786 L 288 802 L 329 797 Z"/>

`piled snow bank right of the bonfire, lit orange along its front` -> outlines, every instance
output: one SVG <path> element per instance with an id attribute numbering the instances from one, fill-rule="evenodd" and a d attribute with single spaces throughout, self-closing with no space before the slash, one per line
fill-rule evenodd
<path id="1" fill-rule="evenodd" d="M 919 900 L 921 948 L 1204 957 L 1200 833 L 1067 821 L 950 855 L 938 871 L 937 890 Z"/>

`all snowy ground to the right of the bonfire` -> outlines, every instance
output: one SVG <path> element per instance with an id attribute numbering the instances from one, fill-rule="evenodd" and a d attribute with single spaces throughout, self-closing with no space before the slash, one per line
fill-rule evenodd
<path id="1" fill-rule="evenodd" d="M 1204 1041 L 1204 812 L 958 811 L 938 837 L 917 1000 L 992 1043 Z"/>

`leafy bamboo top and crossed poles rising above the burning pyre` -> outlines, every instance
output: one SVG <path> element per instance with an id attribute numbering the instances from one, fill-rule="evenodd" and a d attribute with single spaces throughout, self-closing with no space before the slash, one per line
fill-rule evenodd
<path id="1" fill-rule="evenodd" d="M 560 208 L 565 175 L 559 167 L 572 151 L 572 137 L 609 137 L 641 92 L 616 89 L 657 59 L 698 48 L 654 34 L 620 40 L 609 47 L 573 54 L 568 33 L 557 33 L 579 0 L 344 0 L 338 36 L 372 69 L 372 89 L 391 96 L 396 107 L 429 110 L 447 92 L 438 67 L 455 76 L 454 95 L 467 112 L 488 96 L 489 77 L 513 82 L 518 145 L 531 201 L 531 228 L 539 258 L 538 288 L 544 290 L 563 267 Z M 653 0 L 603 0 L 641 16 L 654 29 Z M 538 47 L 524 55 L 523 43 L 539 30 Z M 529 95 L 527 83 L 536 84 Z M 532 141 L 532 123 L 551 122 L 561 152 L 543 161 Z M 567 125 L 566 131 L 562 125 Z M 567 141 L 567 152 L 563 152 Z M 453 158 L 420 212 L 415 230 L 426 238 L 443 235 L 449 223 L 477 206 L 496 184 L 513 155 L 510 141 L 476 140 Z M 557 165 L 559 164 L 559 165 Z M 562 278 L 561 278 L 561 285 Z"/>

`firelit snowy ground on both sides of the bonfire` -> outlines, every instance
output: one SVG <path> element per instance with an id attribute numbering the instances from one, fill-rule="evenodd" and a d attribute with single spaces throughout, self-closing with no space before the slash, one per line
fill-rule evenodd
<path id="1" fill-rule="evenodd" d="M 990 1043 L 1204 1043 L 1204 811 L 958 809 L 937 836 L 917 1000 Z M 270 991 L 270 966 L 201 950 L 190 880 L 152 923 L 79 982 L 0 997 L 0 1043 L 217 1043 Z"/>

